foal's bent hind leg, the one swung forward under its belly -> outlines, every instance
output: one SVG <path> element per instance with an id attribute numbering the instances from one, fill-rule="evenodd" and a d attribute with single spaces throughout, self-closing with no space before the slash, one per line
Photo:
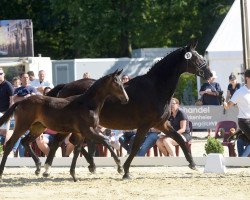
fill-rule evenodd
<path id="1" fill-rule="evenodd" d="M 41 172 L 41 161 L 30 146 L 30 143 L 33 142 L 35 139 L 36 139 L 35 136 L 28 134 L 21 140 L 21 143 L 24 146 L 25 150 L 28 151 L 29 155 L 32 157 L 32 159 L 36 164 L 35 174 L 39 175 Z"/>

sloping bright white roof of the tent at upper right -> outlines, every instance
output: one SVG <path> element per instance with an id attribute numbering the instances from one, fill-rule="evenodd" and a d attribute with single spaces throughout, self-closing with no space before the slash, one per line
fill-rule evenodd
<path id="1" fill-rule="evenodd" d="M 249 2 L 250 3 L 250 2 Z M 248 19 L 250 5 L 248 7 Z M 242 51 L 240 0 L 235 0 L 206 51 Z"/>

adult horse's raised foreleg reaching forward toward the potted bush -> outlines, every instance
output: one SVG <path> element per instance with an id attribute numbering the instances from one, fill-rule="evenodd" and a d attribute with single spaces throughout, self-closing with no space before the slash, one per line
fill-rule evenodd
<path id="1" fill-rule="evenodd" d="M 170 131 L 167 133 L 167 135 L 169 137 L 171 137 L 173 140 L 175 140 L 181 147 L 187 161 L 189 162 L 189 167 L 193 170 L 196 170 L 196 165 L 195 162 L 193 160 L 193 156 L 191 155 L 191 153 L 188 151 L 187 146 L 185 144 L 185 141 L 183 140 L 183 138 L 181 137 L 181 135 L 179 133 L 177 133 L 176 131 Z"/>

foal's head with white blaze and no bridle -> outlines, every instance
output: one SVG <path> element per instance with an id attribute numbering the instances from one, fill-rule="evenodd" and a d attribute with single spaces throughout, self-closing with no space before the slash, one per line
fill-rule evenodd
<path id="1" fill-rule="evenodd" d="M 129 101 L 129 97 L 128 97 L 127 92 L 125 91 L 125 89 L 123 87 L 123 83 L 122 83 L 121 78 L 120 78 L 122 71 L 123 70 L 119 71 L 117 69 L 114 73 L 110 74 L 111 87 L 109 89 L 110 89 L 110 94 L 112 96 L 115 96 L 118 99 L 120 99 L 122 104 L 126 104 Z"/>

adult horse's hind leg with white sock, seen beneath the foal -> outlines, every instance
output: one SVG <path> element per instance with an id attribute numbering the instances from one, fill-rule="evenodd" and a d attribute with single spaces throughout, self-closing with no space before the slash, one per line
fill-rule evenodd
<path id="1" fill-rule="evenodd" d="M 57 133 L 55 135 L 55 139 L 54 141 L 51 143 L 50 145 L 50 150 L 49 150 L 49 154 L 47 156 L 47 159 L 45 161 L 44 164 L 44 168 L 45 168 L 45 172 L 43 173 L 44 177 L 48 177 L 50 174 L 50 168 L 52 166 L 52 162 L 53 159 L 55 157 L 56 154 L 56 150 L 58 149 L 58 147 L 62 144 L 63 140 L 69 135 L 69 133 L 63 134 L 63 133 Z"/>

